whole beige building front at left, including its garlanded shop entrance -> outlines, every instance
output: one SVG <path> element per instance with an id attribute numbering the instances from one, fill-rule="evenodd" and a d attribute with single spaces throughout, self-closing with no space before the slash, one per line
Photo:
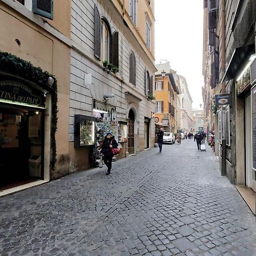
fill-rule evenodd
<path id="1" fill-rule="evenodd" d="M 0 1 L 1 190 L 69 173 L 70 15 L 70 1 Z"/>

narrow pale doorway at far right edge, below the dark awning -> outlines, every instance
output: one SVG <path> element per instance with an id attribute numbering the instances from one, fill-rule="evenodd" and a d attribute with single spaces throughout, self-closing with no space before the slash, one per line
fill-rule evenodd
<path id="1" fill-rule="evenodd" d="M 256 191 L 255 171 L 252 168 L 252 143 L 251 143 L 251 96 L 245 99 L 245 168 L 246 186 Z"/>

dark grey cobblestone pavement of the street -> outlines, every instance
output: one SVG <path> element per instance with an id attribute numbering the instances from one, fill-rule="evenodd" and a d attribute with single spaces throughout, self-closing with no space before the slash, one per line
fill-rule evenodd
<path id="1" fill-rule="evenodd" d="M 0 199 L 1 255 L 256 255 L 212 150 L 164 145 Z"/>

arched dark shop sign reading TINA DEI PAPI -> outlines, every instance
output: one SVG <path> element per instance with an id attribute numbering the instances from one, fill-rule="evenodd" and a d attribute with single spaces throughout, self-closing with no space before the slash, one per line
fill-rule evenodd
<path id="1" fill-rule="evenodd" d="M 16 81 L 0 81 L 0 101 L 45 108 L 45 97 L 42 92 L 32 90 Z"/>

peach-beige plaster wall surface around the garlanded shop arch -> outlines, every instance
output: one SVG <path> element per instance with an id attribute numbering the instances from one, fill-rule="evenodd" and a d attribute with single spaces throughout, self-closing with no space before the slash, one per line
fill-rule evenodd
<path id="1" fill-rule="evenodd" d="M 58 1 L 55 2 L 57 3 Z M 62 11 L 63 8 L 60 10 Z M 67 6 L 65 8 L 68 9 Z M 55 16 L 57 17 L 58 15 L 61 16 L 62 14 L 58 14 L 55 6 Z M 69 23 L 69 17 L 66 16 L 65 18 L 65 23 Z M 56 18 L 57 23 L 60 23 L 60 20 Z M 68 26 L 62 24 L 61 27 L 63 31 L 67 32 Z M 67 102 L 69 102 L 70 48 L 26 19 L 22 14 L 1 3 L 0 35 L 1 51 L 9 52 L 23 60 L 30 61 L 32 65 L 52 73 L 57 79 L 59 111 L 56 132 L 57 163 L 56 170 L 50 174 L 50 177 L 55 179 L 68 174 L 69 104 Z M 15 39 L 20 40 L 20 46 L 15 42 Z"/>

